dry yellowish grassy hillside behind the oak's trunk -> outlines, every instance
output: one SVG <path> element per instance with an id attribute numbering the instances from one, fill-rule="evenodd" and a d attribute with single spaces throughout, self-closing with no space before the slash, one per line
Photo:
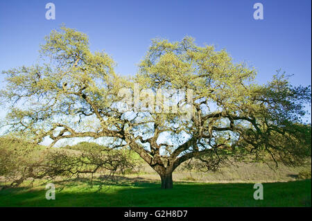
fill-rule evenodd
<path id="1" fill-rule="evenodd" d="M 69 150 L 88 150 L 91 148 L 103 148 L 96 143 L 78 143 L 66 146 Z M 127 170 L 125 177 L 138 180 L 157 181 L 159 175 L 148 163 L 139 157 L 139 154 L 131 151 L 129 156 L 137 161 L 135 170 Z M 298 167 L 287 167 L 282 163 L 276 168 L 272 159 L 268 158 L 265 163 L 233 163 L 231 166 L 221 166 L 216 172 L 200 172 L 198 170 L 184 170 L 182 166 L 173 172 L 173 180 L 181 182 L 204 182 L 204 183 L 254 183 L 254 182 L 289 182 L 296 181 L 300 173 L 311 174 L 311 159 L 306 165 Z M 306 177 L 306 178 L 311 178 Z"/>

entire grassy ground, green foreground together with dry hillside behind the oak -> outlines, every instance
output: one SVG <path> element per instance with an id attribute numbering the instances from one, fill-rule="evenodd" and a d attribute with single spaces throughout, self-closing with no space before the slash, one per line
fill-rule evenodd
<path id="1" fill-rule="evenodd" d="M 6 150 L 8 142 L 3 142 L 1 148 Z M 16 141 L 9 147 L 18 150 Z M 80 152 L 89 148 L 103 147 L 80 143 L 61 149 Z M 29 156 L 38 157 L 41 150 L 46 148 L 39 147 Z M 66 183 L 57 179 L 52 181 L 56 200 L 46 200 L 45 180 L 37 180 L 31 188 L 26 181 L 17 188 L 0 187 L 0 206 L 311 206 L 311 159 L 305 166 L 280 164 L 275 170 L 263 163 L 235 163 L 214 173 L 180 168 L 173 173 L 174 188 L 162 190 L 159 175 L 134 152 L 130 157 L 137 161 L 135 170 L 119 174 L 111 185 L 103 183 L 100 175 L 94 176 L 92 184 L 87 177 Z M 7 162 L 3 160 L 3 165 Z M 302 171 L 310 179 L 299 180 Z M 253 184 L 258 182 L 263 183 L 264 200 L 253 199 Z M 0 186 L 4 184 L 9 183 L 0 177 Z"/>

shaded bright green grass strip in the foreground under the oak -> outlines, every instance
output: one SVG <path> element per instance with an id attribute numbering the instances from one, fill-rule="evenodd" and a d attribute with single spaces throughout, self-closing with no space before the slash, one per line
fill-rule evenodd
<path id="1" fill-rule="evenodd" d="M 44 186 L 0 191 L 0 206 L 311 206 L 311 179 L 263 184 L 263 200 L 254 200 L 253 184 L 175 182 L 162 190 L 159 182 L 104 186 L 71 182 L 45 199 Z"/>

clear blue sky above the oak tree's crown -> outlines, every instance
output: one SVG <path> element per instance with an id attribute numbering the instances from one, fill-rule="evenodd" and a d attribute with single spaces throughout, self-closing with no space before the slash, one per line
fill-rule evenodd
<path id="1" fill-rule="evenodd" d="M 55 20 L 45 18 L 49 2 Z M 257 2 L 263 20 L 253 17 Z M 135 74 L 150 39 L 189 35 L 256 67 L 260 83 L 282 69 L 293 85 L 311 84 L 311 0 L 0 1 L 0 71 L 35 64 L 44 36 L 62 23 L 89 35 L 92 51 L 105 49 L 123 75 Z"/>

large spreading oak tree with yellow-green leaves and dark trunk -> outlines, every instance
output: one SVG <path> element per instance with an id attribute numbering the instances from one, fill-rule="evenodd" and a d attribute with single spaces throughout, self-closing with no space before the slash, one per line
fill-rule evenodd
<path id="1" fill-rule="evenodd" d="M 137 152 L 162 188 L 192 158 L 214 170 L 250 154 L 286 165 L 311 156 L 311 125 L 301 119 L 310 87 L 293 87 L 284 74 L 258 85 L 253 68 L 191 37 L 154 39 L 137 75 L 125 78 L 109 55 L 90 51 L 87 35 L 60 29 L 46 37 L 40 64 L 3 71 L 8 131 L 37 143 L 49 136 L 51 145 L 105 137 L 111 148 Z"/>

